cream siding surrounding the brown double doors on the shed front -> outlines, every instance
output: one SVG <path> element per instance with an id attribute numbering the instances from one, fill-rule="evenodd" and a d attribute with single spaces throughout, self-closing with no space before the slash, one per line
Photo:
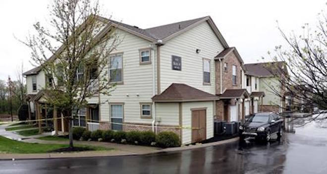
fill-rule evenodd
<path id="1" fill-rule="evenodd" d="M 182 104 L 182 144 L 191 143 L 192 112 L 194 108 L 207 108 L 207 139 L 214 136 L 214 102 L 185 102 Z"/>

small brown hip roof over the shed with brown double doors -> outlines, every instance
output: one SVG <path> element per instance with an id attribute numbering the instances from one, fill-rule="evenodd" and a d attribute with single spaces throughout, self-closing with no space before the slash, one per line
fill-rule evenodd
<path id="1" fill-rule="evenodd" d="M 153 96 L 152 100 L 154 102 L 213 101 L 218 100 L 218 97 L 185 84 L 172 83 L 161 94 Z"/>

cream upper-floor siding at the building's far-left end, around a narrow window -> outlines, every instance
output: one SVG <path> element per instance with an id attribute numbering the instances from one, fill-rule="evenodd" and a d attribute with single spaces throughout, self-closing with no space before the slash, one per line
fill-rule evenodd
<path id="1" fill-rule="evenodd" d="M 32 86 L 32 77 L 36 76 L 36 91 L 33 91 Z M 41 89 L 45 88 L 46 86 L 46 75 L 44 71 L 40 71 L 36 75 L 27 75 L 26 76 L 26 87 L 27 87 L 27 94 L 36 94 Z"/>

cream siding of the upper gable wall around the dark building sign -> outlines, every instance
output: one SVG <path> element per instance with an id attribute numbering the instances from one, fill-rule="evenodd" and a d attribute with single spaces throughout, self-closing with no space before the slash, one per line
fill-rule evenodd
<path id="1" fill-rule="evenodd" d="M 199 54 L 196 49 L 200 49 Z M 222 45 L 207 22 L 176 36 L 161 47 L 161 91 L 171 83 L 184 83 L 216 94 L 214 57 L 223 50 Z M 181 57 L 182 70 L 172 70 L 171 56 Z M 203 58 L 211 59 L 211 85 L 203 85 Z"/>

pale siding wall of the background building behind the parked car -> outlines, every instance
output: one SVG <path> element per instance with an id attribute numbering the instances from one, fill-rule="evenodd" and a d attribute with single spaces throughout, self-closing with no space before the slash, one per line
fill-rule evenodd
<path id="1" fill-rule="evenodd" d="M 263 105 L 279 105 L 279 97 L 273 92 L 274 90 L 280 91 L 280 84 L 278 80 L 273 77 L 265 77 L 260 78 L 259 81 L 260 90 L 265 92 Z"/>

